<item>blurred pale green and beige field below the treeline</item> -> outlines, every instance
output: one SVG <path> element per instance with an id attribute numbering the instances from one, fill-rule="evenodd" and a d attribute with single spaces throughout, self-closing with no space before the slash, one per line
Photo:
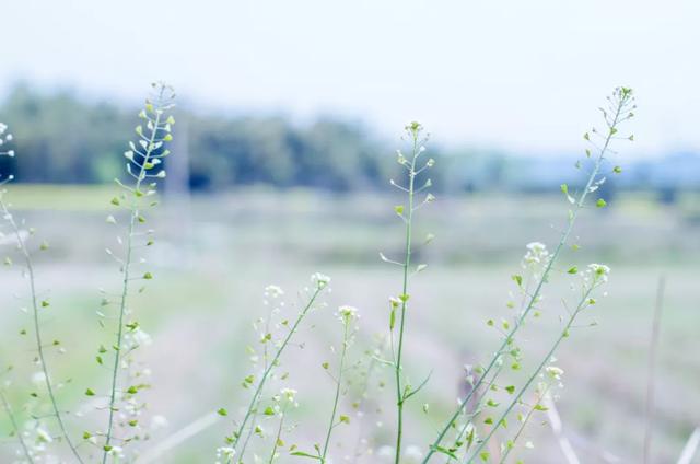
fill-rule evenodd
<path id="1" fill-rule="evenodd" d="M 116 246 L 116 232 L 104 220 L 113 194 L 112 187 L 18 185 L 9 197 L 18 214 L 51 245 L 37 256 L 37 274 L 51 299 L 45 318 L 47 337 L 61 339 L 68 349 L 67 355 L 55 356 L 52 366 L 57 378 L 72 380 L 61 391 L 61 401 L 73 409 L 81 407 L 86 385 L 104 386 L 106 380 L 93 358 L 95 348 L 112 339 L 97 325 L 97 288 L 113 291 L 119 279 L 116 264 L 104 253 L 105 247 Z M 400 290 L 399 270 L 378 259 L 380 251 L 398 256 L 402 246 L 401 223 L 393 213 L 397 201 L 375 194 L 261 189 L 164 198 L 163 207 L 149 219 L 159 237 L 147 256 L 156 279 L 135 304 L 154 339 L 143 350 L 154 373 L 152 408 L 170 421 L 155 442 L 207 411 L 226 406 L 233 413 L 242 404 L 245 392 L 238 384 L 248 372 L 244 347 L 255 340 L 249 323 L 264 312 L 261 294 L 268 283 L 282 286 L 293 301 L 295 289 L 307 285 L 312 272 L 330 275 L 330 309 L 352 304 L 362 313 L 355 349 L 362 358 L 363 347 L 387 324 L 387 297 Z M 663 205 L 649 194 L 620 195 L 606 210 L 584 211 L 573 237 L 581 250 L 562 257 L 562 269 L 591 262 L 612 267 L 609 297 L 586 320 L 598 325 L 576 330 L 559 355 L 565 370 L 559 408 L 583 462 L 604 462 L 599 457 L 604 450 L 622 462 L 641 461 L 648 346 L 661 275 L 667 279 L 667 298 L 657 371 L 655 462 L 677 457 L 687 436 L 700 425 L 700 361 L 695 355 L 700 347 L 697 208 L 698 198 L 692 196 Z M 416 383 L 431 370 L 433 374 L 409 411 L 408 443 L 422 444 L 434 436 L 454 405 L 463 364 L 482 362 L 495 349 L 498 334 L 485 321 L 509 316 L 510 276 L 518 270 L 525 244 L 541 241 L 553 246 L 565 209 L 560 196 L 478 195 L 439 199 L 421 210 L 417 236 L 431 232 L 436 239 L 417 252 L 417 262 L 428 263 L 429 268 L 413 281 L 407 372 Z M 28 320 L 18 311 L 22 301 L 15 294 L 22 298 L 25 290 L 16 268 L 4 271 L 1 289 L 2 362 L 12 359 L 18 366 L 15 380 L 26 382 L 34 369 L 33 353 L 18 335 Z M 545 315 L 523 336 L 526 362 L 534 363 L 553 340 L 563 311 L 559 299 L 567 294 L 568 277 L 557 272 L 546 290 Z M 320 363 L 331 359 L 328 347 L 340 336 L 331 312 L 313 315 L 315 327 L 300 334 L 307 336 L 304 349 L 284 360 L 290 382 L 301 392 L 302 424 L 310 418 L 326 420 L 331 383 Z M 378 385 L 382 379 L 388 381 L 387 374 L 380 371 L 372 381 L 373 395 L 386 394 Z M 427 402 L 428 416 L 421 411 Z M 373 437 L 377 445 L 389 444 L 390 413 L 390 408 L 368 413 L 370 420 L 364 424 L 371 427 L 364 436 Z M 104 417 L 90 414 L 89 420 L 104 421 Z M 337 455 L 351 452 L 358 422 L 353 419 L 346 430 L 350 439 Z M 318 441 L 320 427 L 302 426 L 295 437 L 302 443 Z M 220 421 L 163 462 L 212 461 L 226 432 L 225 421 Z M 536 421 L 529 434 L 536 448 L 521 456 L 537 463 L 562 462 L 548 428 Z M 10 453 L 11 448 L 0 452 Z M 0 455 L 0 461 L 7 456 Z"/>

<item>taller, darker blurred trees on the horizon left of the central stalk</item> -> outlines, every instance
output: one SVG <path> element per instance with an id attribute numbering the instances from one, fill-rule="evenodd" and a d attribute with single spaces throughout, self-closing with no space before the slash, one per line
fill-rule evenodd
<path id="1" fill-rule="evenodd" d="M 0 120 L 10 126 L 21 154 L 0 161 L 14 164 L 18 181 L 33 183 L 110 182 L 122 172 L 121 153 L 138 124 L 136 112 L 26 84 L 0 105 Z M 350 190 L 385 185 L 396 170 L 392 151 L 345 121 L 324 118 L 298 127 L 275 116 L 184 112 L 177 121 L 172 150 L 180 154 L 184 136 L 194 189 L 269 184 Z"/>

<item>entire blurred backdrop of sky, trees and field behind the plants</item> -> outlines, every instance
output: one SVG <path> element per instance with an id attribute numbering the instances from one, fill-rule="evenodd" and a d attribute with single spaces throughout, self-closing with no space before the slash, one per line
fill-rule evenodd
<path id="1" fill-rule="evenodd" d="M 119 279 L 104 253 L 115 242 L 105 217 L 150 82 L 166 80 L 179 96 L 163 204 L 151 220 L 158 246 L 147 255 L 158 278 L 135 304 L 153 338 L 143 350 L 152 409 L 168 421 L 154 442 L 221 406 L 237 410 L 262 289 L 280 285 L 293 302 L 314 271 L 334 279 L 330 309 L 314 315 L 307 343 L 284 366 L 301 392 L 295 437 L 318 440 L 332 393 L 320 362 L 340 336 L 332 308 L 360 309 L 360 361 L 386 332 L 387 298 L 400 290 L 398 269 L 378 253 L 402 247 L 388 179 L 399 173 L 402 127 L 417 119 L 432 135 L 438 197 L 418 217 L 419 233 L 436 239 L 419 252 L 429 268 L 413 280 L 409 321 L 408 373 L 433 371 L 409 411 L 417 445 L 454 404 L 464 364 L 495 349 L 485 322 L 511 314 L 510 276 L 525 245 L 556 244 L 568 208 L 559 185 L 582 182 L 582 134 L 599 123 L 605 96 L 630 85 L 639 111 L 626 129 L 635 141 L 616 146 L 622 174 L 599 192 L 608 207 L 584 211 L 581 250 L 562 259 L 562 268 L 606 263 L 612 275 L 585 321 L 597 325 L 559 353 L 558 408 L 582 462 L 641 462 L 664 277 L 653 462 L 674 462 L 700 426 L 697 3 L 73 0 L 0 11 L 0 120 L 18 152 L 0 172 L 16 176 L 9 198 L 18 216 L 50 243 L 37 276 L 55 308 L 45 329 L 67 349 L 52 356 L 56 375 L 71 380 L 61 390 L 67 408 L 80 409 L 83 385 L 104 380 L 93 366 L 94 348 L 109 339 L 95 315 L 97 289 Z M 27 381 L 23 286 L 16 269 L 3 272 L 0 348 Z M 556 335 L 567 287 L 557 272 L 545 316 L 524 339 L 529 362 Z M 383 382 L 390 376 L 378 369 L 373 397 L 385 395 Z M 390 410 L 368 407 L 365 416 L 346 431 L 339 456 L 355 437 L 377 450 L 390 444 Z M 163 462 L 209 462 L 226 430 L 215 421 Z M 533 422 L 529 436 L 535 449 L 522 456 L 563 462 L 548 426 Z M 0 460 L 12 452 L 8 442 Z"/>

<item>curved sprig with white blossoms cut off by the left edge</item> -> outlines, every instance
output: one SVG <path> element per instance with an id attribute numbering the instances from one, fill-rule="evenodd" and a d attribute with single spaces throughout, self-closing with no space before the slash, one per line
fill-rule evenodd
<path id="1" fill-rule="evenodd" d="M 7 130 L 8 130 L 8 126 L 4 124 L 0 124 L 0 147 L 13 140 L 12 134 L 7 134 Z M 14 150 L 0 151 L 0 156 L 14 158 L 14 155 L 15 155 Z M 60 430 L 60 437 L 65 440 L 66 444 L 68 444 L 68 446 L 70 448 L 70 451 L 73 454 L 73 457 L 79 463 L 82 463 L 83 462 L 82 457 L 78 452 L 77 446 L 73 444 L 73 441 L 71 440 L 68 429 L 66 427 L 66 424 L 63 421 L 63 411 L 61 411 L 61 409 L 58 406 L 58 401 L 56 399 L 56 393 L 55 393 L 56 386 L 54 385 L 54 382 L 51 380 L 48 363 L 46 361 L 47 347 L 57 346 L 57 344 L 59 345 L 60 341 L 57 340 L 51 345 L 45 345 L 44 343 L 42 323 L 40 323 L 40 312 L 42 310 L 46 310 L 47 308 L 49 308 L 50 304 L 47 299 L 42 300 L 39 298 L 39 294 L 37 291 L 36 276 L 34 270 L 34 262 L 32 259 L 32 253 L 30 251 L 30 246 L 27 243 L 27 237 L 33 236 L 36 231 L 34 229 L 30 229 L 28 234 L 25 234 L 22 228 L 20 227 L 20 224 L 18 223 L 18 221 L 14 219 L 14 216 L 10 211 L 10 205 L 4 199 L 4 195 L 7 194 L 7 190 L 4 189 L 4 185 L 12 182 L 13 179 L 14 179 L 14 175 L 8 175 L 4 179 L 0 181 L 0 188 L 2 188 L 0 190 L 0 210 L 2 212 L 2 219 L 10 227 L 11 234 L 14 236 L 16 241 L 15 243 L 16 250 L 22 256 L 22 260 L 24 264 L 24 275 L 28 280 L 30 300 L 31 300 L 31 306 L 32 306 L 31 313 L 32 313 L 32 321 L 34 325 L 34 341 L 35 341 L 36 351 L 37 351 L 37 364 L 40 368 L 40 372 L 42 372 L 40 376 L 46 387 L 46 394 L 50 403 L 50 407 L 51 407 L 50 416 L 52 416 L 56 419 L 56 422 Z M 38 246 L 39 251 L 45 251 L 47 248 L 48 248 L 48 244 L 46 244 L 45 242 Z M 5 264 L 12 264 L 12 260 L 8 257 L 5 258 Z M 3 402 L 4 402 L 4 398 L 3 398 Z M 9 403 L 7 404 L 5 409 L 9 413 L 11 413 Z M 26 444 L 24 442 L 22 442 L 21 444 L 23 450 L 27 450 Z M 26 456 L 31 459 L 28 454 L 26 454 Z"/>

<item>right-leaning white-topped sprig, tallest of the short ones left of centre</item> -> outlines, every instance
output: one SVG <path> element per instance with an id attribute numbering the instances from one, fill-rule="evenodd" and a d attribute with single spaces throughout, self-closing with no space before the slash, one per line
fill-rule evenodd
<path id="1" fill-rule="evenodd" d="M 312 281 L 312 288 L 308 289 L 310 295 L 306 302 L 304 303 L 302 310 L 296 315 L 296 318 L 294 320 L 294 322 L 289 327 L 289 332 L 287 333 L 284 338 L 280 341 L 279 346 L 275 350 L 275 355 L 272 356 L 269 363 L 267 363 L 267 367 L 262 371 L 257 382 L 255 381 L 255 375 L 249 375 L 245 379 L 245 382 L 250 384 L 250 386 L 255 385 L 254 387 L 255 390 L 248 403 L 248 407 L 244 413 L 243 419 L 237 424 L 237 427 L 235 428 L 233 433 L 230 437 L 225 438 L 226 453 L 223 454 L 222 462 L 226 464 L 232 463 L 234 459 L 237 462 L 242 462 L 243 456 L 245 454 L 245 450 L 242 449 L 238 452 L 238 445 L 241 444 L 241 439 L 243 437 L 243 433 L 246 430 L 246 427 L 253 420 L 254 416 L 257 414 L 257 406 L 259 404 L 260 395 L 262 394 L 265 385 L 268 379 L 270 378 L 272 370 L 279 366 L 279 361 L 280 361 L 280 358 L 282 357 L 282 353 L 285 351 L 293 336 L 299 330 L 301 323 L 308 315 L 311 310 L 315 308 L 318 297 L 324 292 L 324 290 L 328 289 L 328 286 L 330 283 L 330 278 L 323 274 L 314 274 L 311 277 L 311 281 Z M 226 410 L 223 408 L 220 409 L 219 414 L 222 416 L 228 415 Z"/>

